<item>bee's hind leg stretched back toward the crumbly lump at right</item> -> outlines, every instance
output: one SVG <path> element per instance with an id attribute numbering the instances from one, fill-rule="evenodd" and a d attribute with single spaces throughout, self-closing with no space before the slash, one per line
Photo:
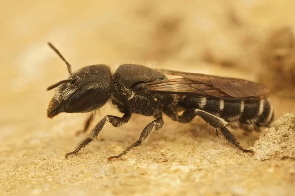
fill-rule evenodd
<path id="1" fill-rule="evenodd" d="M 193 120 L 195 116 L 201 117 L 205 120 L 208 124 L 213 126 L 214 128 L 218 129 L 221 132 L 221 135 L 234 147 L 242 150 L 243 152 L 251 152 L 254 153 L 252 150 L 247 150 L 240 146 L 240 143 L 236 139 L 236 137 L 232 134 L 232 132 L 226 127 L 228 123 L 220 117 L 217 117 L 213 114 L 205 112 L 199 109 L 188 109 L 183 112 L 182 115 L 178 117 L 180 123 L 189 123 Z"/>

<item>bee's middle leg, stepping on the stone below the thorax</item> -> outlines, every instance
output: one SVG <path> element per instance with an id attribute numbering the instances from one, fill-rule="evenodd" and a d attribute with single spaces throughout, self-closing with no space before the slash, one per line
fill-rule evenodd
<path id="1" fill-rule="evenodd" d="M 149 123 L 144 130 L 141 132 L 139 139 L 133 143 L 132 145 L 130 145 L 129 147 L 127 147 L 121 154 L 117 155 L 117 156 L 110 156 L 108 158 L 108 161 L 111 161 L 114 158 L 119 158 L 121 156 L 123 156 L 124 154 L 127 154 L 127 152 L 129 152 L 130 150 L 132 150 L 134 147 L 138 147 L 145 139 L 147 139 L 148 135 L 153 131 L 153 130 L 160 130 L 164 125 L 163 119 L 162 119 L 162 114 L 158 114 L 156 117 L 156 120 L 152 121 L 151 123 Z"/>

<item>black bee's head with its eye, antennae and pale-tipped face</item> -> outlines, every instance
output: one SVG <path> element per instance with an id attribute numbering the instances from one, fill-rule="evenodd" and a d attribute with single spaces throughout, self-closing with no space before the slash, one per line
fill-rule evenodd
<path id="1" fill-rule="evenodd" d="M 57 87 L 49 103 L 47 116 L 52 118 L 61 112 L 90 112 L 102 107 L 112 94 L 112 73 L 109 67 L 91 65 L 72 73 L 71 65 L 51 43 L 49 46 L 67 64 L 70 76 L 47 88 L 51 90 Z"/>

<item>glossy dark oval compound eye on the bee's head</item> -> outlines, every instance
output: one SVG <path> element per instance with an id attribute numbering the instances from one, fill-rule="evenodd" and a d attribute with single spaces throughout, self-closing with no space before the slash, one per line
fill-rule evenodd
<path id="1" fill-rule="evenodd" d="M 97 82 L 88 82 L 80 89 L 78 89 L 67 101 L 66 109 L 67 112 L 78 112 L 87 104 L 87 102 L 92 98 L 93 92 L 98 87 Z"/>

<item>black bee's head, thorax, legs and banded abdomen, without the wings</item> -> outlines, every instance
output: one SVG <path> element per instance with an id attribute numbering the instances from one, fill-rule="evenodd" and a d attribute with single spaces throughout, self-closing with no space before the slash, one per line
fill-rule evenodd
<path id="1" fill-rule="evenodd" d="M 52 45 L 50 46 L 65 61 L 59 51 Z M 66 157 L 70 154 L 76 154 L 91 142 L 100 133 L 106 122 L 119 127 L 129 121 L 132 113 L 154 116 L 155 120 L 144 128 L 139 139 L 134 144 L 118 156 L 109 157 L 109 160 L 126 154 L 133 147 L 139 146 L 153 130 L 161 129 L 164 125 L 162 113 L 180 123 L 190 123 L 195 116 L 199 116 L 215 128 L 216 132 L 220 131 L 221 135 L 231 145 L 244 152 L 253 151 L 241 147 L 227 127 L 241 127 L 246 131 L 259 130 L 260 127 L 267 127 L 273 120 L 273 109 L 267 99 L 254 98 L 252 100 L 250 99 L 252 94 L 249 94 L 245 89 L 242 89 L 241 92 L 249 94 L 249 99 L 230 99 L 231 97 L 228 95 L 235 94 L 233 89 L 228 89 L 230 92 L 228 94 L 224 92 L 217 92 L 218 94 L 216 94 L 216 89 L 213 89 L 213 93 L 218 96 L 228 96 L 227 100 L 218 96 L 210 95 L 206 97 L 203 94 L 202 96 L 197 96 L 190 93 L 182 93 L 181 95 L 164 92 L 153 93 L 150 92 L 148 84 L 168 81 L 167 77 L 157 70 L 142 65 L 123 64 L 112 74 L 105 65 L 93 65 L 72 73 L 71 66 L 68 62 L 66 63 L 70 77 L 48 88 L 52 89 L 59 86 L 49 104 L 48 117 L 52 118 L 60 112 L 95 111 L 108 100 L 123 113 L 122 117 L 105 116 L 89 133 L 89 136 L 81 141 L 73 152 L 67 153 Z M 226 79 L 224 80 L 226 81 Z M 232 81 L 236 82 L 236 80 Z M 244 85 L 246 84 L 247 82 Z M 256 87 L 253 85 L 254 90 Z M 220 88 L 223 88 L 223 86 Z M 207 86 L 206 89 L 208 89 Z M 263 94 L 265 96 L 266 91 Z M 178 112 L 181 110 L 183 113 L 179 115 Z M 92 119 L 93 114 L 89 116 L 82 132 L 88 129 Z"/>

